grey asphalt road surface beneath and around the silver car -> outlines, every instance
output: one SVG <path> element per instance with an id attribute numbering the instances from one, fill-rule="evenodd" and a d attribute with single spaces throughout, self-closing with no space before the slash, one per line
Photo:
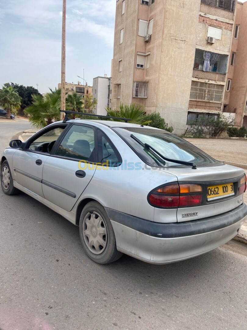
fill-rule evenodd
<path id="1" fill-rule="evenodd" d="M 27 122 L 0 122 L 0 149 Z M 21 126 L 22 125 L 22 126 Z M 247 246 L 156 266 L 101 266 L 78 228 L 21 193 L 0 191 L 1 330 L 246 330 Z"/>

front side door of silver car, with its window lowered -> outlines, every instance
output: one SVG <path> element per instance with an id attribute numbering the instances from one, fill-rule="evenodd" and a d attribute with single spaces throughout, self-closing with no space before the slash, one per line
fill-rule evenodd
<path id="1" fill-rule="evenodd" d="M 41 185 L 43 165 L 50 156 L 48 146 L 54 145 L 65 128 L 66 125 L 59 124 L 38 132 L 24 150 L 17 149 L 13 155 L 13 179 L 41 197 L 44 197 Z"/>

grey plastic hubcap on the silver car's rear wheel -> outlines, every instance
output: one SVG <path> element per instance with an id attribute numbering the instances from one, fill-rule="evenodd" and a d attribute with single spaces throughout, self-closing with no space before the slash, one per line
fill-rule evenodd
<path id="1" fill-rule="evenodd" d="M 107 232 L 103 218 L 97 212 L 86 214 L 83 219 L 83 238 L 91 252 L 101 254 L 106 247 Z"/>

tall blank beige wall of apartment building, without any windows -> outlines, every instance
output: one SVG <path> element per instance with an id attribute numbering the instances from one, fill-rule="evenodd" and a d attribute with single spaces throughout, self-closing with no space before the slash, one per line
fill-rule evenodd
<path id="1" fill-rule="evenodd" d="M 186 123 L 200 4 L 166 0 L 156 109 L 168 122 Z"/>

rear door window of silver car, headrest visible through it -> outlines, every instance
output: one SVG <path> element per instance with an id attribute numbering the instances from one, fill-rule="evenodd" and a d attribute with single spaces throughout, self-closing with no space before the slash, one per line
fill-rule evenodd
<path id="1" fill-rule="evenodd" d="M 88 126 L 73 125 L 64 136 L 55 154 L 95 162 L 94 129 Z"/>

